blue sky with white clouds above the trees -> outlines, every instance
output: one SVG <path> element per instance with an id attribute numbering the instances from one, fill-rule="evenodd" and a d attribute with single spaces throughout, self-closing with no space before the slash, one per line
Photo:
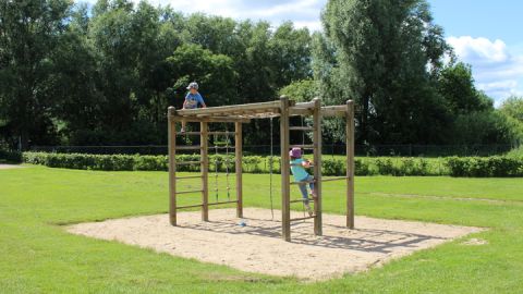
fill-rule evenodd
<path id="1" fill-rule="evenodd" d="M 84 0 L 85 1 L 85 0 Z M 96 0 L 86 0 L 95 2 Z M 138 0 L 135 0 L 136 2 Z M 149 0 L 186 13 L 204 12 L 236 20 L 290 20 L 299 27 L 321 29 L 319 14 L 327 0 Z M 520 0 L 428 0 L 435 22 L 445 28 L 458 57 L 470 63 L 476 87 L 499 105 L 511 95 L 523 96 L 523 17 Z"/>

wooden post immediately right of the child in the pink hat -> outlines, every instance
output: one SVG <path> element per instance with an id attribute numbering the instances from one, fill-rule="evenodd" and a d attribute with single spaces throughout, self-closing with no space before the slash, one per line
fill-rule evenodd
<path id="1" fill-rule="evenodd" d="M 314 189 L 316 192 L 316 199 L 314 201 L 314 234 L 321 235 L 321 100 L 314 98 L 314 131 L 313 131 L 313 146 L 314 146 L 314 177 L 316 180 Z"/>

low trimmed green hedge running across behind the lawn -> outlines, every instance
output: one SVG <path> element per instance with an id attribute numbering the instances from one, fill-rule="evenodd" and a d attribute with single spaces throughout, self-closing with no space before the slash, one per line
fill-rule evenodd
<path id="1" fill-rule="evenodd" d="M 179 155 L 178 161 L 199 161 L 198 155 Z M 167 171 L 167 156 L 85 155 L 24 152 L 23 161 L 51 168 L 104 171 Z M 247 173 L 280 172 L 280 159 L 245 156 L 242 168 Z M 210 171 L 234 171 L 233 156 L 212 155 Z M 199 164 L 183 164 L 179 171 L 199 171 Z M 523 176 L 523 158 L 518 157 L 450 157 L 450 158 L 356 158 L 356 175 L 452 175 L 452 176 Z M 324 158 L 324 175 L 345 174 L 343 158 Z"/>

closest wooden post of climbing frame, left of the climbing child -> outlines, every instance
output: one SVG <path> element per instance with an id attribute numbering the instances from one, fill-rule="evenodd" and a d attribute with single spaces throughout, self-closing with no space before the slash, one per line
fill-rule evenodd
<path id="1" fill-rule="evenodd" d="M 289 98 L 280 97 L 280 148 L 281 148 L 281 236 L 291 241 L 291 175 L 289 157 Z"/>

